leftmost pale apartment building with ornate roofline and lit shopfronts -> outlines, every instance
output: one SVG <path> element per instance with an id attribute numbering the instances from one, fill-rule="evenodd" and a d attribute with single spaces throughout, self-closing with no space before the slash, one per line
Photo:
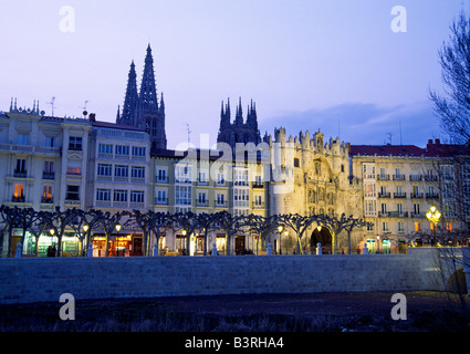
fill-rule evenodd
<path id="1" fill-rule="evenodd" d="M 9 207 L 52 211 L 55 207 L 84 208 L 88 168 L 88 119 L 49 117 L 33 108 L 18 107 L 0 113 L 0 198 Z M 21 237 L 13 230 L 12 249 Z M 25 251 L 33 248 L 27 238 Z M 64 250 L 76 252 L 76 238 L 64 237 Z M 39 240 L 40 253 L 54 238 Z M 8 252 L 3 248 L 3 253 Z"/>

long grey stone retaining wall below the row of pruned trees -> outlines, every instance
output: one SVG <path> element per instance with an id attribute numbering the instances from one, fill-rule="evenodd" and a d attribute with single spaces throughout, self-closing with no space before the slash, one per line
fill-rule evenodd
<path id="1" fill-rule="evenodd" d="M 0 259 L 0 303 L 75 299 L 441 290 L 432 252 Z"/>

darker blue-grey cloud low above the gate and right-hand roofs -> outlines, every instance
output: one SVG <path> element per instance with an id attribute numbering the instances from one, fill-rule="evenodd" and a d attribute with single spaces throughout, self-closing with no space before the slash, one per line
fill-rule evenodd
<path id="1" fill-rule="evenodd" d="M 340 136 L 353 145 L 383 145 L 386 143 L 425 146 L 429 138 L 441 135 L 430 102 L 418 102 L 395 106 L 347 103 L 324 110 L 311 108 L 303 112 L 279 112 L 260 118 L 264 131 L 273 134 L 283 126 L 286 134 L 296 136 L 301 131 L 320 131 L 326 138 Z"/>

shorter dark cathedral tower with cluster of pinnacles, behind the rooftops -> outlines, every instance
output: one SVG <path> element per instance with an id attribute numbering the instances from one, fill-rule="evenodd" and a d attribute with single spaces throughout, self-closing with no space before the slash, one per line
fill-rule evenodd
<path id="1" fill-rule="evenodd" d="M 253 143 L 255 145 L 261 143 L 260 131 L 258 129 L 257 106 L 253 104 L 253 101 L 248 106 L 247 121 L 244 123 L 241 97 L 239 98 L 233 123 L 230 122 L 230 100 L 227 100 L 226 106 L 223 106 L 222 101 L 217 143 L 229 144 L 232 150 L 234 150 L 237 143 Z"/>

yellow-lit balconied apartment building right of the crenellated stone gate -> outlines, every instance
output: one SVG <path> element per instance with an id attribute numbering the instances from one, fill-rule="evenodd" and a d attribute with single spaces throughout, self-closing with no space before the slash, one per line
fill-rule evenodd
<path id="1" fill-rule="evenodd" d="M 352 175 L 363 187 L 364 217 L 374 222 L 366 235 L 370 251 L 389 252 L 409 242 L 427 242 L 435 232 L 435 225 L 426 217 L 431 206 L 441 212 L 440 232 L 451 236 L 467 230 L 460 215 L 463 209 L 458 211 L 458 196 L 459 184 L 468 185 L 468 177 L 455 159 L 457 150 L 443 152 L 437 146 L 441 146 L 439 140 L 429 140 L 426 148 L 351 146 Z"/>

